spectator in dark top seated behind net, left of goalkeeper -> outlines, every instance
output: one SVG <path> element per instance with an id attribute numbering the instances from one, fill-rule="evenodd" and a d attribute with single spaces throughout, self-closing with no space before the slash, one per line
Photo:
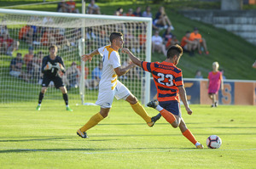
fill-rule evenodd
<path id="1" fill-rule="evenodd" d="M 19 77 L 22 80 L 28 82 L 29 78 L 27 74 L 24 71 L 22 71 L 22 65 L 23 65 L 22 56 L 20 53 L 17 53 L 16 58 L 12 59 L 9 65 L 9 75 Z"/>

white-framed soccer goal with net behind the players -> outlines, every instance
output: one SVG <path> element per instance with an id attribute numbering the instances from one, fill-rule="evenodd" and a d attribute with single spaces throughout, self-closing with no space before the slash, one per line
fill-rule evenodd
<path id="1" fill-rule="evenodd" d="M 130 48 L 138 58 L 151 60 L 152 20 L 149 18 L 1 8 L 0 29 L 1 104 L 37 102 L 42 83 L 41 60 L 49 54 L 50 45 L 58 47 L 57 54 L 64 60 L 67 72 L 61 77 L 71 104 L 95 103 L 102 57 L 98 55 L 90 63 L 84 63 L 81 55 L 108 45 L 112 31 L 124 34 L 125 48 Z M 17 61 L 20 54 L 22 61 Z M 127 54 L 119 54 L 121 64 L 128 64 Z M 120 76 L 119 81 L 145 104 L 149 101 L 149 78 L 141 68 L 133 68 Z M 61 100 L 61 92 L 50 84 L 45 99 Z"/>

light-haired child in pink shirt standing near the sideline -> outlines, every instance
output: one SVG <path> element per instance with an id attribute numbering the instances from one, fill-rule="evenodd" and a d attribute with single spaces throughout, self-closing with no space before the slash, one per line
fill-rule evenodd
<path id="1" fill-rule="evenodd" d="M 212 71 L 209 72 L 208 75 L 208 96 L 210 99 L 212 99 L 212 107 L 217 107 L 218 102 L 216 100 L 216 95 L 218 93 L 219 87 L 221 87 L 221 90 L 223 90 L 223 79 L 222 79 L 222 73 L 218 70 L 218 62 L 212 63 Z"/>

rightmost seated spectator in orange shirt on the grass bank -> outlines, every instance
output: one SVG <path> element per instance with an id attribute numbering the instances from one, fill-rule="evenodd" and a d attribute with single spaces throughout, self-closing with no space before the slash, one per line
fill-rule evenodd
<path id="1" fill-rule="evenodd" d="M 198 53 L 201 54 L 201 47 L 204 49 L 206 54 L 209 54 L 209 51 L 207 49 L 207 42 L 204 38 L 201 37 L 201 34 L 199 33 L 197 27 L 194 28 L 194 31 L 190 33 L 189 37 L 190 41 L 198 42 Z"/>

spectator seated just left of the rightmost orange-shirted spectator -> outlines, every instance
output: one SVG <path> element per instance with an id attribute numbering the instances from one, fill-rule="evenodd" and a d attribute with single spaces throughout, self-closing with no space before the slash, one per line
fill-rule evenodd
<path id="1" fill-rule="evenodd" d="M 189 55 L 193 56 L 194 50 L 196 48 L 199 48 L 199 42 L 191 41 L 191 40 L 189 40 L 189 37 L 190 37 L 190 31 L 187 31 L 186 35 L 182 38 L 180 46 L 183 48 L 184 52 L 189 52 Z"/>

